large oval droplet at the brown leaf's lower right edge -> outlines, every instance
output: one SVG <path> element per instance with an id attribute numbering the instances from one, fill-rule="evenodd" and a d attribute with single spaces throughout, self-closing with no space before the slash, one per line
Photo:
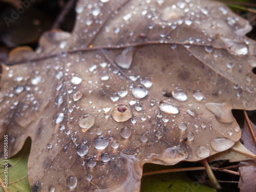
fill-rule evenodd
<path id="1" fill-rule="evenodd" d="M 234 141 L 225 137 L 220 137 L 220 138 L 215 138 L 210 140 L 210 146 L 212 150 L 216 152 L 222 152 L 222 151 L 228 150 L 233 145 L 234 145 Z"/>

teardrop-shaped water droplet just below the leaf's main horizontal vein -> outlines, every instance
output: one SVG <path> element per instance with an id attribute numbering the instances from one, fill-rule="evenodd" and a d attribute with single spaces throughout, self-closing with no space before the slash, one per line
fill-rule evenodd
<path id="1" fill-rule="evenodd" d="M 115 61 L 119 67 L 129 69 L 133 61 L 133 48 L 124 49 L 116 56 Z"/>

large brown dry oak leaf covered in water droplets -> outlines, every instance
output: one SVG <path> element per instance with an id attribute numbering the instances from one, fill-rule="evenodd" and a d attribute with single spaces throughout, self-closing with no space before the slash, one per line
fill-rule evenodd
<path id="1" fill-rule="evenodd" d="M 231 109 L 256 109 L 246 20 L 210 1 L 76 12 L 73 33 L 46 33 L 3 65 L 1 134 L 10 155 L 32 138 L 32 191 L 139 191 L 144 163 L 198 161 L 240 139 Z"/>

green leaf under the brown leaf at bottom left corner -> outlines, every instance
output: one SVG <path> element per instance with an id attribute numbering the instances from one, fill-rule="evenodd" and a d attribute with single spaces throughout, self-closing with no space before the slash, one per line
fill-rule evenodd
<path id="1" fill-rule="evenodd" d="M 0 187 L 0 192 L 30 191 L 28 179 L 28 158 L 30 153 L 30 146 L 31 140 L 27 139 L 22 150 L 20 150 L 15 156 L 9 158 L 8 161 L 0 159 L 0 178 L 3 182 L 5 182 L 5 175 L 8 175 L 8 190 L 4 190 L 2 187 Z M 4 173 L 5 162 L 9 163 L 8 174 Z"/>

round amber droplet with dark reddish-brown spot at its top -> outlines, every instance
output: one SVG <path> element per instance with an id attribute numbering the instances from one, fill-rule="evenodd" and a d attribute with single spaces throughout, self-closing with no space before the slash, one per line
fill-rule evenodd
<path id="1" fill-rule="evenodd" d="M 133 117 L 131 108 L 126 105 L 117 105 L 112 111 L 112 117 L 117 122 L 124 122 Z"/>

